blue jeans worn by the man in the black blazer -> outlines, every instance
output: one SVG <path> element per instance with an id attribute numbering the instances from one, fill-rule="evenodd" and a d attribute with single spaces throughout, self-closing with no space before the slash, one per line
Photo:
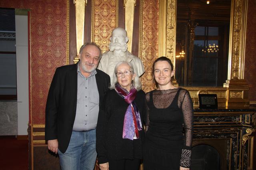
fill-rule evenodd
<path id="1" fill-rule="evenodd" d="M 72 131 L 68 149 L 58 150 L 62 170 L 93 170 L 96 152 L 96 129 Z"/>

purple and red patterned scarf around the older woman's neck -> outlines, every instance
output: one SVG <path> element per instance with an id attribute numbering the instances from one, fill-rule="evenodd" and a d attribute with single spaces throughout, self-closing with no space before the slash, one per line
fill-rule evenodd
<path id="1" fill-rule="evenodd" d="M 124 115 L 124 127 L 123 127 L 123 139 L 139 139 L 139 132 L 142 130 L 142 124 L 140 119 L 140 112 L 136 106 L 134 99 L 137 94 L 137 90 L 132 88 L 130 92 L 122 88 L 119 84 L 116 84 L 116 92 L 120 94 L 129 104 Z"/>

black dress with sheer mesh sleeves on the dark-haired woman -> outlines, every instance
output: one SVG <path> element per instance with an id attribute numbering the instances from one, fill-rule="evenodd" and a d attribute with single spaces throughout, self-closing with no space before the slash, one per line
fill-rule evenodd
<path id="1" fill-rule="evenodd" d="M 193 104 L 187 90 L 153 90 L 146 94 L 148 125 L 144 142 L 144 170 L 189 168 Z"/>

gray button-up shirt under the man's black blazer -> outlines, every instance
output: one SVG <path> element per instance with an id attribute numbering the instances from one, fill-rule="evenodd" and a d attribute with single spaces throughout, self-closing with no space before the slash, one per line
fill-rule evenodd
<path id="1" fill-rule="evenodd" d="M 80 63 L 79 63 L 80 64 Z M 88 78 L 80 72 L 77 67 L 77 104 L 74 131 L 89 131 L 96 128 L 99 113 L 99 92 L 95 74 L 91 72 Z"/>

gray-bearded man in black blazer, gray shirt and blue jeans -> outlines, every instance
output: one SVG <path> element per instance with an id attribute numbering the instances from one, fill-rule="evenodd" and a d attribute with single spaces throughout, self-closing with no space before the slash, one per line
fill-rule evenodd
<path id="1" fill-rule="evenodd" d="M 82 45 L 77 64 L 56 69 L 46 102 L 45 140 L 60 156 L 62 170 L 93 170 L 96 125 L 110 77 L 96 69 L 101 57 L 94 43 Z"/>

